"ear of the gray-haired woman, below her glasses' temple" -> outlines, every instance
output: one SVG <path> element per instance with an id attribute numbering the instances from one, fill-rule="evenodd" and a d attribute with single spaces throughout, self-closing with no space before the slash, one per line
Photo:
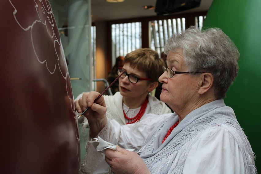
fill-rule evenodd
<path id="1" fill-rule="evenodd" d="M 199 94 L 204 94 L 210 90 L 214 83 L 214 76 L 211 73 L 203 73 L 201 86 L 199 87 Z"/>

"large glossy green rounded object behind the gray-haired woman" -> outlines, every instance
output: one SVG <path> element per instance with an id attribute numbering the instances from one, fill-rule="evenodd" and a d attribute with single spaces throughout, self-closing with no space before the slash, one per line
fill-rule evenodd
<path id="1" fill-rule="evenodd" d="M 225 103 L 234 109 L 261 171 L 261 1 L 214 0 L 203 27 L 221 28 L 239 49 L 239 73 Z"/>

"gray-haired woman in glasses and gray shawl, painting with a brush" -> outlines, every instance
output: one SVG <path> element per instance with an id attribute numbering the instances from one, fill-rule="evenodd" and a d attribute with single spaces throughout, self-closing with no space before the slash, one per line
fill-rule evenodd
<path id="1" fill-rule="evenodd" d="M 254 153 L 223 98 L 238 73 L 239 52 L 218 28 L 188 28 L 168 39 L 167 67 L 159 78 L 160 98 L 174 113 L 147 115 L 119 126 L 107 121 L 102 97 L 92 92 L 76 104 L 85 114 L 92 138 L 99 136 L 117 150 L 105 151 L 117 173 L 256 173 Z M 146 128 L 146 132 L 139 131 Z M 136 149 L 130 152 L 122 148 Z"/>

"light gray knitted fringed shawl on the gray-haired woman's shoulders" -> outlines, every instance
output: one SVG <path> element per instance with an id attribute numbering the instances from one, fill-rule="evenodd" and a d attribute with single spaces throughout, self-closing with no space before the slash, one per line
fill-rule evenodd
<path id="1" fill-rule="evenodd" d="M 177 121 L 178 116 L 173 113 L 157 123 L 145 145 L 138 151 L 151 173 L 182 173 L 187 154 L 195 141 L 204 130 L 216 125 L 224 127 L 233 135 L 243 155 L 245 173 L 256 172 L 254 153 L 248 139 L 237 122 L 233 109 L 225 106 L 223 99 L 189 113 L 161 144 L 166 132 Z"/>

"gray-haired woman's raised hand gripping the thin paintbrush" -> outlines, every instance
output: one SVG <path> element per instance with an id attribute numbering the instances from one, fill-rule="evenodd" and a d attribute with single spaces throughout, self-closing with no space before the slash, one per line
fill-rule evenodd
<path id="1" fill-rule="evenodd" d="M 78 113 L 82 113 L 86 108 L 90 107 L 84 113 L 84 116 L 88 119 L 91 138 L 96 137 L 107 124 L 107 108 L 104 98 L 100 96 L 99 99 L 95 100 L 99 95 L 100 93 L 97 92 L 84 93 L 79 100 L 75 101 L 75 108 Z"/>

